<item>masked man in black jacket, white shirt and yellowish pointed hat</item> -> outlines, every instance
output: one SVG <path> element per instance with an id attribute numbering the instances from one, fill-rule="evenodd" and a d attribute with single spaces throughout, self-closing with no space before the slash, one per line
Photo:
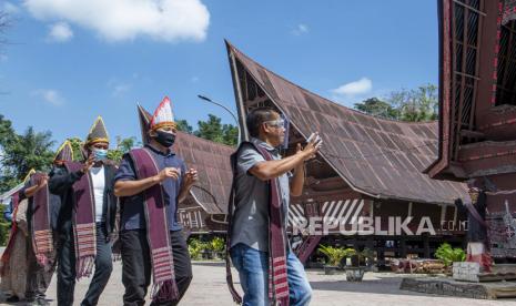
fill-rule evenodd
<path id="1" fill-rule="evenodd" d="M 110 234 L 114 230 L 115 166 L 108 160 L 109 137 L 99 116 L 84 144 L 84 163 L 65 162 L 50 177 L 60 194 L 58 305 L 73 305 L 75 279 L 91 278 L 81 305 L 97 305 L 113 269 Z M 94 273 L 93 273 L 94 268 Z"/>

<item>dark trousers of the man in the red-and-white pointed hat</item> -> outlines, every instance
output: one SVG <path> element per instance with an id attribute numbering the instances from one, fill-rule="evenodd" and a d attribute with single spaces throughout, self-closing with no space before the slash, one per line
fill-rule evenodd
<path id="1" fill-rule="evenodd" d="M 122 231 L 120 233 L 122 251 L 122 283 L 125 287 L 123 305 L 136 306 L 145 304 L 145 295 L 151 283 L 151 257 L 146 232 L 144 230 Z M 170 232 L 172 254 L 174 256 L 175 283 L 179 299 L 168 304 L 178 305 L 192 282 L 192 265 L 186 241 L 181 231 Z"/>

